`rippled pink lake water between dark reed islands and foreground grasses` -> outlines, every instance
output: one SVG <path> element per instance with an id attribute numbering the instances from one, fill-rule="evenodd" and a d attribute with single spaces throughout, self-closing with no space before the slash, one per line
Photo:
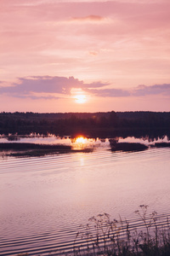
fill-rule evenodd
<path id="1" fill-rule="evenodd" d="M 0 254 L 72 247 L 80 224 L 107 212 L 127 219 L 139 205 L 170 212 L 170 148 L 0 159 Z"/>

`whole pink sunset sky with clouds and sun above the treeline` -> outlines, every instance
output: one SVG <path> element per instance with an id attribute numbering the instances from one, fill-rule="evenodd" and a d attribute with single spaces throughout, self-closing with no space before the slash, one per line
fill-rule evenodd
<path id="1" fill-rule="evenodd" d="M 170 111 L 169 0 L 0 0 L 0 112 Z"/>

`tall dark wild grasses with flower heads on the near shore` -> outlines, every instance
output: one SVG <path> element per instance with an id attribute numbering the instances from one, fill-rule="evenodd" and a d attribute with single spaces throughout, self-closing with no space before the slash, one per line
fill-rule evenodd
<path id="1" fill-rule="evenodd" d="M 157 212 L 149 214 L 147 205 L 139 206 L 135 214 L 138 228 L 121 217 L 111 220 L 107 213 L 89 218 L 77 233 L 72 255 L 169 256 L 168 218 L 162 220 Z"/>

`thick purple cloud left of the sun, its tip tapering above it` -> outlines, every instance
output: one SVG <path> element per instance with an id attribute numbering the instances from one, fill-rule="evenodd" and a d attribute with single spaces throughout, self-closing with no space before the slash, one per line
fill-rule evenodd
<path id="1" fill-rule="evenodd" d="M 84 90 L 88 88 L 100 88 L 105 85 L 108 84 L 101 82 L 85 84 L 83 81 L 75 79 L 74 77 L 31 76 L 20 78 L 17 83 L 13 83 L 8 87 L 1 86 L 0 93 L 15 97 L 31 98 L 42 98 L 45 94 L 45 97 L 56 98 L 58 97 L 56 94 L 70 95 L 72 88 L 81 88 Z"/>

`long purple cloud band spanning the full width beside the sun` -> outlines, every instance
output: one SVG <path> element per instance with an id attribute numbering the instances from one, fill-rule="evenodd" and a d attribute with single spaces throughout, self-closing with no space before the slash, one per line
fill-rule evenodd
<path id="1" fill-rule="evenodd" d="M 6 84 L 6 83 L 4 83 Z M 86 84 L 74 77 L 31 76 L 18 79 L 17 83 L 4 86 L 0 81 L 0 94 L 19 98 L 59 99 L 71 95 L 71 89 L 80 88 L 84 92 L 99 97 L 127 96 L 170 96 L 170 84 L 139 85 L 133 89 L 105 88 L 111 85 L 100 81 Z"/>

